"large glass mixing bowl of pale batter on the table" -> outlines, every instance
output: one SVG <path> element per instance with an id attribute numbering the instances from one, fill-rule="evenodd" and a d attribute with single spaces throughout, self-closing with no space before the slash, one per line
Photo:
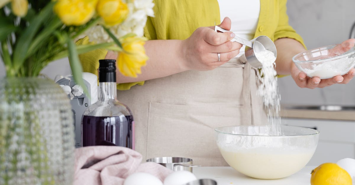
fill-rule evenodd
<path id="1" fill-rule="evenodd" d="M 229 126 L 215 129 L 225 161 L 238 172 L 257 179 L 279 179 L 302 169 L 312 158 L 319 132 L 281 126 L 271 135 L 268 126 Z"/>

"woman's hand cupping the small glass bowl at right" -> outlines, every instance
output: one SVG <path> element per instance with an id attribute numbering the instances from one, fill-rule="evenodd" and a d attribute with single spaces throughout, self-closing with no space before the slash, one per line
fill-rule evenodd
<path id="1" fill-rule="evenodd" d="M 355 39 L 345 40 L 342 44 L 335 46 L 331 52 L 336 56 L 338 53 L 343 53 L 354 47 Z M 307 75 L 301 72 L 294 63 L 291 64 L 291 76 L 295 80 L 296 84 L 301 88 L 324 88 L 333 84 L 347 84 L 355 76 L 355 69 L 351 69 L 343 76 L 335 76 L 329 79 L 320 79 L 318 77 L 307 77 Z"/>

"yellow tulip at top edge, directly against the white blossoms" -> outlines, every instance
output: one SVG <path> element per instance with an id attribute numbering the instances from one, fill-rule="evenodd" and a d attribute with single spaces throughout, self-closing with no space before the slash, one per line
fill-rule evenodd
<path id="1" fill-rule="evenodd" d="M 121 0 L 99 0 L 96 11 L 107 26 L 114 26 L 127 18 L 128 6 Z"/>

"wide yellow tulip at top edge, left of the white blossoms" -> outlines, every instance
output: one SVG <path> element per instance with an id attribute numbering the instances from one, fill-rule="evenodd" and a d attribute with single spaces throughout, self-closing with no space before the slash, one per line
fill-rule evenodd
<path id="1" fill-rule="evenodd" d="M 54 5 L 54 12 L 66 25 L 80 26 L 95 14 L 98 0 L 58 0 Z"/>

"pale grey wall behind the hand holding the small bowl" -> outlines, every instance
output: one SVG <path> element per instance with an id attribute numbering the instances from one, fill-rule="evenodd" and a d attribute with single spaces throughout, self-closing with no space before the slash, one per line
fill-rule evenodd
<path id="1" fill-rule="evenodd" d="M 355 0 L 289 0 L 289 24 L 308 49 L 338 44 L 349 38 L 355 22 Z M 278 80 L 283 104 L 355 105 L 355 79 L 323 89 L 301 89 L 291 77 Z"/>

